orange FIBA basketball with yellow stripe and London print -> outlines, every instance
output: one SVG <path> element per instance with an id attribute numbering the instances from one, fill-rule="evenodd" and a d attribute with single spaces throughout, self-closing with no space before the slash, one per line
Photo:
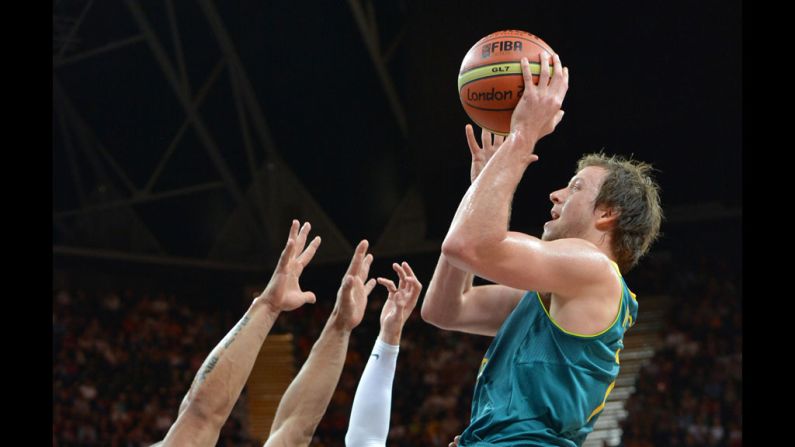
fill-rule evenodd
<path id="1" fill-rule="evenodd" d="M 539 56 L 544 51 L 555 54 L 537 36 L 518 30 L 497 31 L 473 45 L 458 73 L 458 96 L 469 118 L 491 133 L 508 135 L 511 114 L 524 89 L 519 61 L 527 58 L 538 84 Z"/>

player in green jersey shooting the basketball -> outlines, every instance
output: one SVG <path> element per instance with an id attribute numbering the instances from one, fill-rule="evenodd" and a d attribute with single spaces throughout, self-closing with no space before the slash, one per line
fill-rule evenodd
<path id="1" fill-rule="evenodd" d="M 524 92 L 511 132 L 480 148 L 467 126 L 472 185 L 456 211 L 422 305 L 442 329 L 494 336 L 481 362 L 469 426 L 455 442 L 581 445 L 613 389 L 638 303 L 622 273 L 657 237 L 662 212 L 650 166 L 586 155 L 550 194 L 541 238 L 509 231 L 511 202 L 535 146 L 563 117 L 569 72 L 540 57 L 538 85 L 522 58 Z M 473 275 L 494 282 L 473 287 Z"/>

